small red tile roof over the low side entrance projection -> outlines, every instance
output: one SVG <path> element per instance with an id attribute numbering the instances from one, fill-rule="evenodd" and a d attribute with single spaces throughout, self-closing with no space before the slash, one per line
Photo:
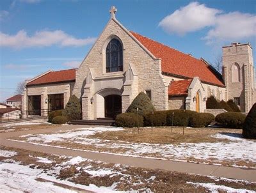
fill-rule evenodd
<path id="1" fill-rule="evenodd" d="M 172 81 L 168 88 L 169 95 L 188 95 L 188 87 L 192 80 Z"/>

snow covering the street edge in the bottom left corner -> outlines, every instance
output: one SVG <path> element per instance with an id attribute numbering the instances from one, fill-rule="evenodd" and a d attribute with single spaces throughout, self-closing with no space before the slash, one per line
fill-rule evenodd
<path id="1" fill-rule="evenodd" d="M 75 184 L 67 180 L 57 180 L 54 176 L 49 176 L 43 173 L 42 169 L 31 169 L 29 166 L 19 165 L 19 162 L 1 162 L 0 176 L 1 192 L 77 192 L 56 186 L 51 182 L 36 181 L 37 178 L 42 178 L 93 192 L 117 192 L 113 190 L 115 185 L 111 187 L 97 187 L 96 185 L 92 184 L 86 186 Z"/>

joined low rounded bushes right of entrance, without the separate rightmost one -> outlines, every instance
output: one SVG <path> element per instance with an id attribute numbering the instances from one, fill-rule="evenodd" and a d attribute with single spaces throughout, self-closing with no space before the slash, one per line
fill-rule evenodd
<path id="1" fill-rule="evenodd" d="M 116 116 L 118 127 L 139 127 L 141 126 L 180 126 L 180 127 L 205 127 L 214 121 L 211 113 L 195 112 L 188 110 L 155 111 L 152 114 L 135 114 L 125 112 Z"/>

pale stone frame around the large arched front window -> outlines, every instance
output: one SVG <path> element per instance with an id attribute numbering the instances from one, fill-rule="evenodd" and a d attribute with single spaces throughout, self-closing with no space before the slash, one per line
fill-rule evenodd
<path id="1" fill-rule="evenodd" d="M 107 46 L 108 46 L 108 43 L 112 40 L 112 39 L 117 39 L 122 47 L 123 47 L 123 70 L 122 71 L 117 71 L 117 72 L 106 72 L 106 49 L 107 49 Z M 115 74 L 123 74 L 124 73 L 124 61 L 125 61 L 125 46 L 124 46 L 124 41 L 119 37 L 119 36 L 116 36 L 116 35 L 110 35 L 108 36 L 108 38 L 106 38 L 105 42 L 103 43 L 102 45 L 102 49 L 101 49 L 101 55 L 102 55 L 102 74 L 104 75 L 115 75 Z"/>

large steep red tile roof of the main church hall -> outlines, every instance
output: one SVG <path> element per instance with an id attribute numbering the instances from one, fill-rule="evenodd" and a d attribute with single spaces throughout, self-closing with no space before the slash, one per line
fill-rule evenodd
<path id="1" fill-rule="evenodd" d="M 223 82 L 218 79 L 218 75 L 212 72 L 211 67 L 204 61 L 193 58 L 178 50 L 172 49 L 162 43 L 150 40 L 145 36 L 130 31 L 130 33 L 141 42 L 156 58 L 162 60 L 162 72 L 180 75 L 193 79 L 200 77 L 202 82 L 224 87 Z"/>

